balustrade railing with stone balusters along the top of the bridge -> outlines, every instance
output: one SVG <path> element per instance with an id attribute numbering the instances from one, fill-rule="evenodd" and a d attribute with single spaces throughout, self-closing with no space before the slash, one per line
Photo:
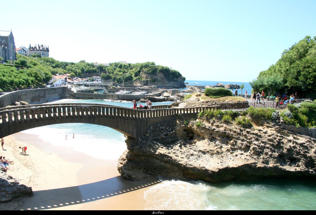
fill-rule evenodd
<path id="1" fill-rule="evenodd" d="M 19 109 L 9 109 L 0 111 L 0 126 L 21 121 L 31 121 L 34 119 L 58 119 L 58 117 L 79 117 L 79 116 L 114 116 L 126 118 L 154 118 L 161 116 L 173 116 L 177 114 L 198 113 L 205 110 L 215 109 L 218 106 L 194 107 L 194 108 L 160 108 L 151 110 L 135 110 L 110 105 L 96 104 L 47 104 L 47 105 L 25 105 L 29 107 Z M 17 106 L 22 107 L 22 106 Z"/>

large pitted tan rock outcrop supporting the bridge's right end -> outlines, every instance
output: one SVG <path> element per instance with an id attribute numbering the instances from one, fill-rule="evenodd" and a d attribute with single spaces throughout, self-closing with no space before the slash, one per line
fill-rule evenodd
<path id="1" fill-rule="evenodd" d="M 123 177 L 147 174 L 210 182 L 274 177 L 315 177 L 315 139 L 278 127 L 246 129 L 191 118 L 150 127 L 140 140 L 128 138 L 119 160 Z"/>

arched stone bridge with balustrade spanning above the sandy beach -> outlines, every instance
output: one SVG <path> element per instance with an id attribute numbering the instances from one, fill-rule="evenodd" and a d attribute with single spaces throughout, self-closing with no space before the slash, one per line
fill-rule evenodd
<path id="1" fill-rule="evenodd" d="M 0 108 L 0 136 L 45 125 L 89 123 L 107 126 L 127 136 L 141 138 L 150 126 L 178 114 L 196 114 L 217 107 L 171 108 L 170 105 L 157 105 L 151 110 L 135 110 L 82 103 L 14 106 Z"/>

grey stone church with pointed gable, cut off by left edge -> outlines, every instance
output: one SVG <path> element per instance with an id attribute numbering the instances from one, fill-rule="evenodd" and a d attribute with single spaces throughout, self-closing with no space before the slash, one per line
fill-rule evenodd
<path id="1" fill-rule="evenodd" d="M 12 31 L 0 31 L 0 57 L 3 58 L 3 62 L 16 60 Z"/>

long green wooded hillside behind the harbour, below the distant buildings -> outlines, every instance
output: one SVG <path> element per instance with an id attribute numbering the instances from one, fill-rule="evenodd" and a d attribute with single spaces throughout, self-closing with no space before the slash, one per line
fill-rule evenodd
<path id="1" fill-rule="evenodd" d="M 83 77 L 87 74 L 100 73 L 104 80 L 112 79 L 116 83 L 132 83 L 137 81 L 159 80 L 156 76 L 162 76 L 169 82 L 176 81 L 184 86 L 185 78 L 169 67 L 155 65 L 154 62 L 146 63 L 110 63 L 105 67 L 94 67 L 93 63 L 84 60 L 79 63 L 57 61 L 52 57 L 28 57 L 16 55 L 17 60 L 13 64 L 0 65 L 0 92 L 13 90 L 15 87 L 30 87 L 45 85 L 52 79 L 52 75 L 69 73 L 71 77 Z M 17 70 L 17 69 L 18 70 Z M 181 86 L 182 86 L 181 85 Z"/>

